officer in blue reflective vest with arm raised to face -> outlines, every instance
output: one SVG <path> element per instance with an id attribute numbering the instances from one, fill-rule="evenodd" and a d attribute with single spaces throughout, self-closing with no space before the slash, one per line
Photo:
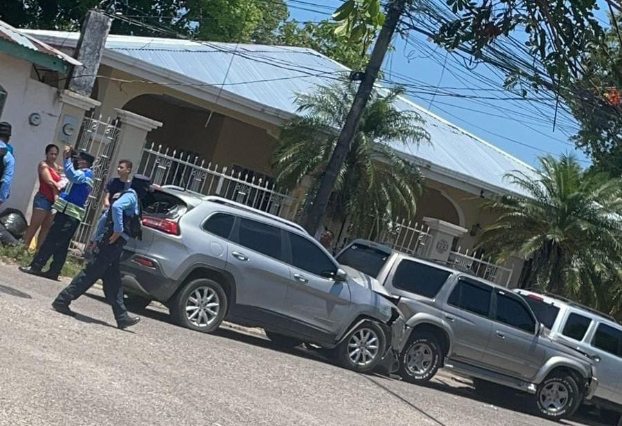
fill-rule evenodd
<path id="1" fill-rule="evenodd" d="M 84 204 L 88 199 L 88 194 L 93 189 L 91 166 L 95 158 L 86 152 L 81 152 L 75 156 L 73 153 L 75 151 L 71 147 L 65 147 L 63 167 L 69 183 L 53 205 L 57 213 L 46 240 L 37 250 L 30 266 L 19 268 L 22 272 L 57 280 L 67 259 L 73 234 L 75 234 L 80 222 L 84 220 Z M 75 159 L 75 165 L 72 158 Z M 53 257 L 50 269 L 42 272 L 50 257 Z"/>

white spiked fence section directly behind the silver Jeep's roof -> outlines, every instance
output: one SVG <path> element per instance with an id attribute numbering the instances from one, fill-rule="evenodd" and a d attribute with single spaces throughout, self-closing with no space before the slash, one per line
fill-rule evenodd
<path id="1" fill-rule="evenodd" d="M 272 180 L 242 170 L 212 165 L 191 153 L 151 142 L 145 145 L 138 173 L 156 185 L 174 185 L 203 195 L 218 195 L 263 212 L 295 220 L 301 200 L 279 192 Z"/>

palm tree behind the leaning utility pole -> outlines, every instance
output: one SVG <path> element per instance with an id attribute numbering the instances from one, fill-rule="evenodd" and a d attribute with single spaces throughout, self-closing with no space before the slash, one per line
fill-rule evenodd
<path id="1" fill-rule="evenodd" d="M 312 198 L 355 93 L 356 86 L 346 83 L 296 96 L 298 111 L 305 115 L 283 125 L 273 158 L 276 179 L 283 187 L 294 189 L 311 176 L 307 200 Z M 378 225 L 397 212 L 414 214 L 417 208 L 422 174 L 390 145 L 417 144 L 429 136 L 418 113 L 395 108 L 402 93 L 402 88 L 373 93 L 332 192 L 331 213 L 344 223 L 350 219 L 357 230 Z"/>

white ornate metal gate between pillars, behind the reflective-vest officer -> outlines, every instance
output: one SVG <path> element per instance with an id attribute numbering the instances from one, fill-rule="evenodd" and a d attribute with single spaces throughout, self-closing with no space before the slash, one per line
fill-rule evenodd
<path id="1" fill-rule="evenodd" d="M 93 163 L 93 189 L 86 201 L 86 214 L 73 237 L 73 248 L 84 250 L 88 239 L 91 238 L 97 219 L 102 211 L 102 194 L 104 183 L 109 176 L 110 162 L 115 154 L 117 140 L 121 134 L 121 123 L 118 118 L 108 118 L 106 121 L 99 118 L 85 117 L 78 135 L 75 149 L 86 151 L 95 157 Z"/>

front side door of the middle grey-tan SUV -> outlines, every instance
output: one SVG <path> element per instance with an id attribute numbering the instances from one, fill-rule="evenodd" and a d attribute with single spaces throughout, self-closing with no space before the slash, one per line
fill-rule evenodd
<path id="1" fill-rule="evenodd" d="M 538 345 L 538 321 L 518 295 L 496 290 L 490 343 L 484 363 L 490 369 L 529 380 L 545 361 L 546 351 Z"/>

